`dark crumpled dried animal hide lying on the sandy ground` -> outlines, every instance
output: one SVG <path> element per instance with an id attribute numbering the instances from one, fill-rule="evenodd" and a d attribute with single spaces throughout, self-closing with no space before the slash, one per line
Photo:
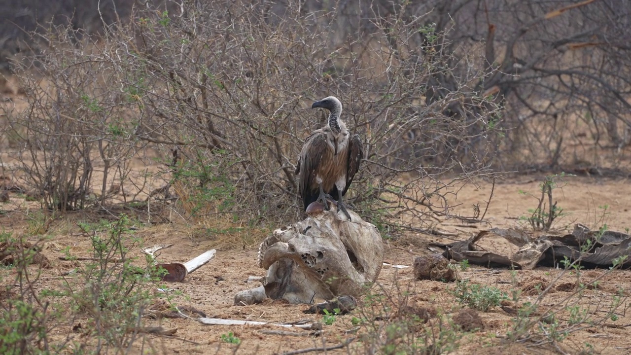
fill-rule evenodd
<path id="1" fill-rule="evenodd" d="M 500 255 L 482 250 L 475 243 L 485 236 L 494 234 L 519 247 L 512 256 Z M 565 236 L 540 236 L 531 238 L 519 229 L 498 229 L 480 231 L 466 241 L 450 244 L 432 243 L 444 250 L 445 258 L 458 262 L 486 267 L 509 267 L 533 269 L 538 266 L 558 267 L 568 260 L 570 263 L 580 260 L 584 268 L 610 268 L 620 256 L 631 256 L 631 236 L 615 231 L 590 231 L 582 224 L 574 226 L 574 231 Z M 631 258 L 627 258 L 623 268 L 631 267 Z"/>

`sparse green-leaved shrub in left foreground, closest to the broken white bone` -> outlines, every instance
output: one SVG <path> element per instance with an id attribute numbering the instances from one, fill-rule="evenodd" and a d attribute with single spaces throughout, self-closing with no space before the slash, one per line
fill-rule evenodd
<path id="1" fill-rule="evenodd" d="M 129 229 L 133 222 L 119 215 L 114 222 L 100 222 L 93 227 L 102 232 L 90 235 L 90 262 L 78 267 L 76 277 L 64 279 L 63 295 L 71 299 L 71 311 L 90 316 L 86 331 L 97 335 L 97 351 L 121 349 L 144 337 L 139 325 L 144 308 L 153 299 L 150 285 L 160 279 L 152 260 L 139 267 L 142 259 L 129 256 L 140 248 L 140 240 Z M 72 255 L 67 258 L 73 259 Z M 163 271 L 162 271 L 163 272 Z"/>

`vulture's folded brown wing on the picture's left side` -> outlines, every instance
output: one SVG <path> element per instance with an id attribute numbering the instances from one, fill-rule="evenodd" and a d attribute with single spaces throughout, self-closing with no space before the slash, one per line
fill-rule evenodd
<path id="1" fill-rule="evenodd" d="M 306 209 L 309 203 L 315 201 L 319 191 L 314 190 L 315 171 L 317 171 L 322 155 L 326 152 L 326 133 L 322 129 L 313 131 L 305 140 L 302 151 L 298 156 L 298 191 L 305 204 Z M 315 196 L 314 196 L 315 195 Z"/>

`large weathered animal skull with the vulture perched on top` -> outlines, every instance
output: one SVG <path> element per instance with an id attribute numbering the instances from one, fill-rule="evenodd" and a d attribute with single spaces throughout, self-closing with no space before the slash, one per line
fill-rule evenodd
<path id="1" fill-rule="evenodd" d="M 268 270 L 263 286 L 239 292 L 235 304 L 266 297 L 312 303 L 367 291 L 379 276 L 384 246 L 375 226 L 348 212 L 352 221 L 334 205 L 324 211 L 312 203 L 306 219 L 276 229 L 259 247 L 259 266 Z"/>

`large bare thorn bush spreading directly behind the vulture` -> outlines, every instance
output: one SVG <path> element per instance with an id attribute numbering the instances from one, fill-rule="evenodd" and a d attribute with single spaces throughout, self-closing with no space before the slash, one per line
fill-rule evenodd
<path id="1" fill-rule="evenodd" d="M 426 214 L 449 215 L 450 186 L 492 174 L 504 133 L 479 85 L 492 71 L 475 53 L 454 56 L 451 29 L 423 25 L 427 15 L 363 9 L 365 23 L 350 33 L 339 23 L 344 8 L 175 5 L 138 8 L 98 40 L 49 27 L 40 54 L 16 63 L 28 108 L 5 109 L 5 134 L 45 207 L 106 207 L 160 191 L 186 219 L 294 219 L 297 155 L 325 124 L 310 103 L 327 95 L 365 141 L 347 200 L 375 224 L 418 228 Z M 132 174 L 134 159 L 151 157 L 163 169 Z M 459 175 L 440 182 L 445 172 Z"/>

